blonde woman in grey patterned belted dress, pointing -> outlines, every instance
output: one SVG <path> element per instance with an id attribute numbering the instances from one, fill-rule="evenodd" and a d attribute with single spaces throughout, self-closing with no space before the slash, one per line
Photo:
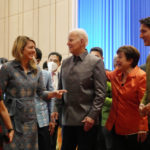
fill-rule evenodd
<path id="1" fill-rule="evenodd" d="M 26 36 L 18 36 L 14 42 L 14 60 L 3 65 L 0 71 L 0 87 L 6 95 L 8 108 L 15 131 L 12 143 L 4 150 L 38 150 L 35 94 L 45 100 L 61 98 L 65 90 L 45 91 L 41 70 L 34 60 L 35 42 Z"/>

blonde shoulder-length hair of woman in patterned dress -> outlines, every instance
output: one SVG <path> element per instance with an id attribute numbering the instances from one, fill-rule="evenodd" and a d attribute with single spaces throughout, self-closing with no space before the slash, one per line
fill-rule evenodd
<path id="1" fill-rule="evenodd" d="M 12 48 L 12 56 L 17 60 L 21 61 L 23 58 L 23 50 L 27 43 L 31 41 L 35 44 L 35 41 L 30 39 L 27 36 L 18 36 L 14 42 L 13 48 Z M 36 45 L 36 44 L 35 44 Z M 29 61 L 29 68 L 34 70 L 34 74 L 37 73 L 37 64 L 34 59 Z"/>

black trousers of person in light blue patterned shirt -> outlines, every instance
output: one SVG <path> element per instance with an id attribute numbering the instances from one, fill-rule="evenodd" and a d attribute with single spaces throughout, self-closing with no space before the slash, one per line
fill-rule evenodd
<path id="1" fill-rule="evenodd" d="M 50 132 L 49 126 L 40 128 L 38 126 L 38 145 L 39 150 L 50 150 Z"/>

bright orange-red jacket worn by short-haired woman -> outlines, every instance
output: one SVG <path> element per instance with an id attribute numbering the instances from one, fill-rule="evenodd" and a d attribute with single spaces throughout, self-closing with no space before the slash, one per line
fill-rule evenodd
<path id="1" fill-rule="evenodd" d="M 146 89 L 146 73 L 135 67 L 122 85 L 122 72 L 118 69 L 106 72 L 112 84 L 112 107 L 106 122 L 106 128 L 120 135 L 134 134 L 138 131 L 148 131 L 147 117 L 139 114 L 139 104 Z"/>

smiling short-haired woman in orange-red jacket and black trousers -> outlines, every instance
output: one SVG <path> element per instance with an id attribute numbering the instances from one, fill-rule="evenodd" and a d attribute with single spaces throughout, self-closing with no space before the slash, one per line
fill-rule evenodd
<path id="1" fill-rule="evenodd" d="M 113 98 L 106 128 L 114 134 L 114 150 L 139 150 L 148 131 L 147 118 L 139 114 L 146 74 L 137 66 L 140 53 L 135 47 L 122 46 L 117 55 L 117 69 L 106 73 Z"/>

